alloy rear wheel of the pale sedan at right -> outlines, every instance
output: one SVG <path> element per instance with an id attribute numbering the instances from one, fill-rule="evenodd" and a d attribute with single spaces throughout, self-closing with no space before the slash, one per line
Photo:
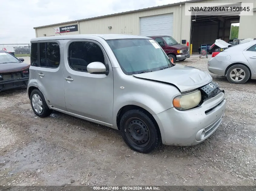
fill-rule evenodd
<path id="1" fill-rule="evenodd" d="M 250 78 L 250 70 L 241 64 L 233 65 L 228 68 L 227 78 L 230 83 L 244 84 Z"/>

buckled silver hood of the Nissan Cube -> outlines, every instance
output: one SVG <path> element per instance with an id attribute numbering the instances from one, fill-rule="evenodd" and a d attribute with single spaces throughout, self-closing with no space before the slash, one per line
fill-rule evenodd
<path id="1" fill-rule="evenodd" d="M 133 76 L 174 85 L 180 92 L 194 90 L 212 81 L 208 72 L 180 64 L 164 70 L 134 74 Z"/>

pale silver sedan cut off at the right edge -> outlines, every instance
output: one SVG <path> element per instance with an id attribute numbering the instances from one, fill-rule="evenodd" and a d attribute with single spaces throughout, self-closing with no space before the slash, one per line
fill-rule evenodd
<path id="1" fill-rule="evenodd" d="M 226 49 L 212 53 L 208 60 L 209 72 L 227 76 L 228 81 L 235 84 L 256 79 L 256 40 L 235 46 L 223 40 L 216 40 L 214 44 Z"/>

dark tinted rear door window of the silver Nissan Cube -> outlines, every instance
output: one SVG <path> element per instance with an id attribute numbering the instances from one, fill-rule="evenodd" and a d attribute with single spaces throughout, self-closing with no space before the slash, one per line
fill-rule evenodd
<path id="1" fill-rule="evenodd" d="M 40 66 L 58 68 L 60 65 L 60 47 L 57 43 L 39 43 Z"/>

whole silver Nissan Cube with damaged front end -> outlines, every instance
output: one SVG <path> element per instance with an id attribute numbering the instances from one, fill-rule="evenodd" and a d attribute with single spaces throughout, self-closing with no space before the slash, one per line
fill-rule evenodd
<path id="1" fill-rule="evenodd" d="M 134 35 L 32 39 L 27 91 L 39 117 L 56 110 L 118 129 L 142 153 L 203 142 L 226 106 L 207 72 L 174 66 L 158 43 Z"/>

